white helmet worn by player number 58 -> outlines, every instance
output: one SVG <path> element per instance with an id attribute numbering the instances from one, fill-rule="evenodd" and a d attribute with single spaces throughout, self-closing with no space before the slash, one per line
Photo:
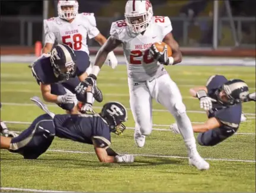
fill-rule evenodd
<path id="1" fill-rule="evenodd" d="M 62 7 L 73 6 L 73 9 L 63 10 Z M 64 20 L 72 20 L 78 14 L 78 1 L 58 1 L 57 4 L 59 18 Z"/>

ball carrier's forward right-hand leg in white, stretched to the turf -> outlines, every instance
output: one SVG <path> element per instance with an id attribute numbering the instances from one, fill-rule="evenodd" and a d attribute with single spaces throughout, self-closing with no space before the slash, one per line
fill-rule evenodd
<path id="1" fill-rule="evenodd" d="M 159 77 L 157 83 L 159 88 L 157 101 L 164 105 L 175 117 L 187 147 L 190 165 L 196 166 L 200 170 L 209 169 L 209 163 L 201 158 L 197 152 L 192 124 L 186 113 L 186 108 L 176 83 L 171 80 L 169 75 Z"/>

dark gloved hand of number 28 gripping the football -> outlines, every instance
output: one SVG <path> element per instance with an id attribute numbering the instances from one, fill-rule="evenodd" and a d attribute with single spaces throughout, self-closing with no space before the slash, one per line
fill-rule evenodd
<path id="1" fill-rule="evenodd" d="M 169 59 L 168 59 L 168 46 L 164 46 L 164 51 L 159 52 L 158 49 L 156 49 L 155 44 L 152 44 L 152 46 L 149 48 L 149 53 L 151 53 L 151 56 L 157 60 L 162 65 L 169 65 Z"/>

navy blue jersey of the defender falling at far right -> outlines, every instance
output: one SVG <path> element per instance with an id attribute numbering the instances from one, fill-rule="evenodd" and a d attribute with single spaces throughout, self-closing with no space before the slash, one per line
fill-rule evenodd
<path id="1" fill-rule="evenodd" d="M 222 75 L 214 75 L 211 76 L 207 83 L 206 88 L 208 91 L 208 95 L 211 98 L 217 99 L 216 91 L 219 89 L 224 83 L 228 82 L 225 76 Z M 242 105 L 236 104 L 232 106 L 224 106 L 217 102 L 213 102 L 212 112 L 209 113 L 208 117 L 216 117 L 222 124 L 222 128 L 235 128 L 239 127 L 241 122 L 241 113 L 242 113 Z"/>

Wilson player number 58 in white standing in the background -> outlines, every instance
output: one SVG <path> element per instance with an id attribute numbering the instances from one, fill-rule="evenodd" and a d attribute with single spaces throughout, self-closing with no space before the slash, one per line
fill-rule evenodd
<path id="1" fill-rule="evenodd" d="M 93 13 L 78 13 L 78 1 L 58 1 L 57 12 L 59 17 L 44 20 L 45 44 L 43 53 L 49 53 L 53 44 L 63 43 L 73 50 L 80 50 L 89 55 L 87 36 L 94 38 L 100 45 L 107 39 L 96 27 L 96 20 Z M 107 64 L 111 67 L 117 66 L 117 59 L 114 52 L 108 54 Z"/>

